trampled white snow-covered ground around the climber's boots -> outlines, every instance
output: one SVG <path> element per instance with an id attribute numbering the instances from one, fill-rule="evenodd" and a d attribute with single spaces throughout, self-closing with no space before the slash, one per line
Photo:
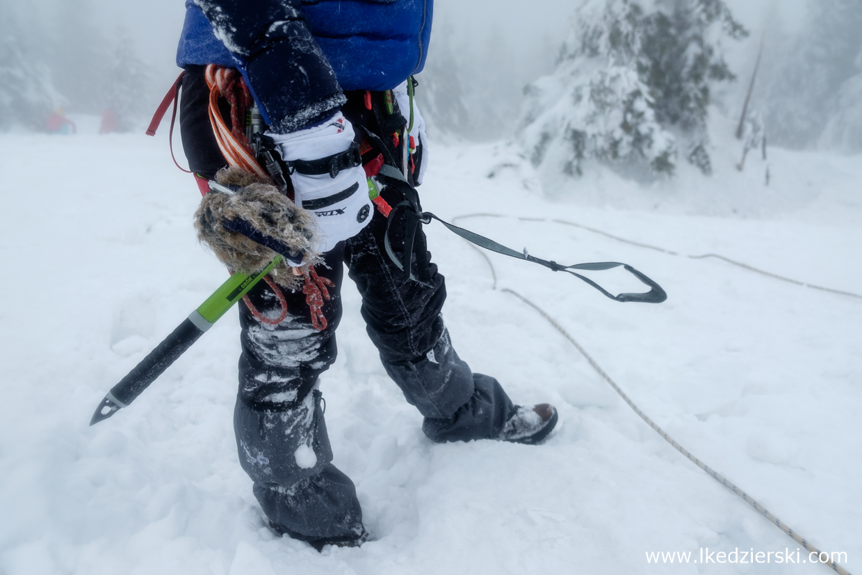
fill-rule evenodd
<path id="1" fill-rule="evenodd" d="M 715 151 L 712 178 L 683 171 L 644 188 L 601 172 L 546 195 L 509 147 L 433 148 L 426 209 L 502 216 L 458 222 L 566 264 L 627 262 L 669 298 L 615 303 L 491 254 L 495 286 L 483 257 L 433 224 L 459 354 L 516 402 L 560 414 L 540 447 L 433 445 L 379 365 L 347 285 L 340 358 L 322 391 L 334 463 L 357 484 L 376 541 L 316 553 L 264 527 L 238 465 L 234 313 L 134 405 L 87 425 L 225 278 L 197 245 L 197 188 L 172 166 L 162 129 L 155 139 L 0 135 L 3 575 L 824 572 L 774 553 L 763 565 L 648 564 L 649 552 L 694 560 L 701 547 L 799 546 L 674 451 L 503 288 L 553 314 L 684 447 L 862 571 L 862 299 L 686 257 L 718 253 L 862 292 L 859 156 L 773 149 L 765 187 L 759 159 L 740 174 L 733 153 Z M 640 291 L 624 272 L 599 277 Z"/>

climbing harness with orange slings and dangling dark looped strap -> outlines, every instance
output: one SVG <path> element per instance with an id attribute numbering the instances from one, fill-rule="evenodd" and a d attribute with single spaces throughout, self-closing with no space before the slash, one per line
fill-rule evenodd
<path id="1" fill-rule="evenodd" d="M 158 125 L 160 116 L 164 116 L 167 106 L 172 101 L 174 103 L 172 114 L 173 126 L 173 117 L 176 116 L 177 91 L 181 79 L 182 75 L 180 75 L 180 78 L 178 78 L 177 82 L 172 86 L 172 90 L 168 92 L 162 104 L 159 106 L 159 110 L 157 110 L 156 116 L 153 117 L 153 122 L 151 123 L 150 129 L 147 130 L 147 134 L 152 135 L 155 133 L 155 126 Z M 628 266 L 628 264 L 620 262 L 594 262 L 564 266 L 553 260 L 538 258 L 528 253 L 526 249 L 522 252 L 515 251 L 512 248 L 505 247 L 502 244 L 485 238 L 482 235 L 475 234 L 470 230 L 445 222 L 440 219 L 439 216 L 436 216 L 431 212 L 423 211 L 419 195 L 415 191 L 413 185 L 409 182 L 411 172 L 415 169 L 412 158 L 412 153 L 415 152 L 415 142 L 409 135 L 409 130 L 413 128 L 414 124 L 413 78 L 409 78 L 407 82 L 410 107 L 409 120 L 404 118 L 400 111 L 397 111 L 395 107 L 395 97 L 392 94 L 392 91 L 384 91 L 382 98 L 375 98 L 371 91 L 365 91 L 363 94 L 365 109 L 372 112 L 378 123 L 379 132 L 381 134 L 391 134 L 391 146 L 384 143 L 377 134 L 372 133 L 368 128 L 358 126 L 357 128 L 363 132 L 361 143 L 358 145 L 354 144 L 348 148 L 346 152 L 335 154 L 330 158 L 316 160 L 314 162 L 295 161 L 289 163 L 278 161 L 275 157 L 276 154 L 273 153 L 272 143 L 267 142 L 266 137 L 262 134 L 253 134 L 253 144 L 249 145 L 249 139 L 247 137 L 249 134 L 245 133 L 240 126 L 246 126 L 246 123 L 242 122 L 242 120 L 246 117 L 247 109 L 251 109 L 253 107 L 253 97 L 251 96 L 247 85 L 242 80 L 240 73 L 230 68 L 209 65 L 206 68 L 206 80 L 210 89 L 210 121 L 213 125 L 213 131 L 216 141 L 218 141 L 219 149 L 222 151 L 224 157 L 228 159 L 228 163 L 231 166 L 240 167 L 247 172 L 253 172 L 264 178 L 270 178 L 270 175 L 274 174 L 274 179 L 277 181 L 277 184 L 284 190 L 287 186 L 286 178 L 284 178 L 281 166 L 284 166 L 288 175 L 296 170 L 303 173 L 330 173 L 331 175 L 347 166 L 358 166 L 359 164 L 364 165 L 365 174 L 368 178 L 369 196 L 372 197 L 372 202 L 387 220 L 386 231 L 384 234 L 385 251 L 392 263 L 403 272 L 404 281 L 413 280 L 421 284 L 428 284 L 430 281 L 430 272 L 428 271 L 428 266 L 430 265 L 430 261 L 428 260 L 428 249 L 425 245 L 425 236 L 422 234 L 421 230 L 423 224 L 428 224 L 432 220 L 437 220 L 449 231 L 454 234 L 458 234 L 467 241 L 471 241 L 478 247 L 482 247 L 496 253 L 502 253 L 503 255 L 512 258 L 530 261 L 540 266 L 545 266 L 553 272 L 570 273 L 576 278 L 590 284 L 604 296 L 615 301 L 661 303 L 667 298 L 665 291 L 661 286 L 659 286 L 659 284 L 654 282 L 651 278 L 648 278 L 647 275 L 634 269 L 634 267 Z M 228 128 L 227 122 L 224 122 L 221 111 L 218 108 L 220 97 L 225 98 L 230 104 L 231 128 Z M 377 99 L 377 102 L 375 102 L 375 99 Z M 382 103 L 380 102 L 381 99 Z M 399 169 L 399 162 L 395 160 L 395 153 L 397 153 L 399 148 L 402 153 L 400 161 L 401 169 Z M 257 159 L 254 158 L 255 153 L 260 154 L 261 152 L 266 154 L 265 165 L 267 166 L 267 170 L 264 170 L 264 168 L 259 165 Z M 176 159 L 174 159 L 174 162 L 176 163 Z M 381 197 L 380 191 L 377 189 L 376 182 L 381 182 L 384 189 L 387 187 L 394 189 L 403 198 L 403 200 L 396 203 L 394 206 L 390 205 L 383 197 Z M 198 183 L 201 184 L 200 181 Z M 204 191 L 203 185 L 201 187 L 202 193 L 209 191 Z M 399 214 L 403 215 L 403 249 L 400 253 L 397 252 L 395 247 L 393 247 L 393 242 L 391 240 L 393 222 L 397 221 L 397 217 L 395 216 Z M 605 290 L 600 284 L 597 284 L 594 280 L 586 278 L 584 275 L 578 273 L 578 271 L 600 272 L 621 266 L 625 271 L 634 275 L 635 278 L 638 278 L 641 283 L 646 284 L 650 288 L 649 291 L 645 293 L 623 293 L 613 295 L 609 293 L 609 291 Z M 316 274 L 315 277 L 317 277 Z M 304 279 L 305 284 L 303 286 L 303 293 L 306 293 L 306 302 L 309 304 L 309 308 L 311 309 L 312 322 L 315 325 L 315 328 L 320 329 L 321 326 L 322 328 L 325 328 L 326 319 L 322 314 L 322 303 L 328 299 L 328 297 L 324 296 L 324 293 L 328 296 L 328 292 L 325 291 L 325 285 L 322 284 L 321 281 L 312 278 L 309 273 L 305 274 Z M 278 287 L 275 287 L 274 291 L 277 291 L 278 296 Z M 252 310 L 253 316 L 261 320 L 263 316 L 253 308 L 253 305 L 248 298 L 244 301 L 246 302 L 248 309 Z M 279 301 L 281 301 L 281 297 L 279 297 Z M 283 315 L 286 316 L 286 312 L 283 311 Z M 284 317 L 281 319 L 283 320 Z M 268 323 L 269 321 L 267 320 L 265 322 Z"/>

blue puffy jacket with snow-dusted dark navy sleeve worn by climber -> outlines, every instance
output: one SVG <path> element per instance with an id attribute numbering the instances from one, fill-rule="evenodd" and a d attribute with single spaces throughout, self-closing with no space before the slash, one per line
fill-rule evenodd
<path id="1" fill-rule="evenodd" d="M 177 64 L 240 69 L 274 131 L 422 70 L 433 0 L 186 0 Z"/>

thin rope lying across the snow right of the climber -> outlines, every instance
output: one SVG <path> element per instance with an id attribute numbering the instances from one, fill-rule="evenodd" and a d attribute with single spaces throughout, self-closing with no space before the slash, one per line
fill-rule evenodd
<path id="1" fill-rule="evenodd" d="M 453 218 L 453 222 L 454 222 L 454 221 L 457 221 L 457 220 L 459 220 L 459 219 L 461 219 L 461 218 L 474 217 L 474 216 L 504 217 L 504 216 L 497 216 L 497 215 L 494 215 L 494 214 L 471 214 L 471 215 L 468 215 L 468 216 L 459 216 L 459 217 L 455 217 L 455 218 Z M 540 219 L 538 219 L 538 218 L 518 218 L 518 219 L 519 219 L 519 220 L 523 220 L 523 221 L 539 221 L 539 222 L 540 222 L 540 221 L 547 221 L 547 220 L 540 220 Z M 562 221 L 559 221 L 559 220 L 553 220 L 553 222 L 568 223 L 568 222 L 562 222 Z M 571 224 L 571 225 L 578 226 L 578 224 Z M 581 227 L 581 226 L 578 226 L 578 227 Z M 586 228 L 586 229 L 590 229 L 590 228 Z M 609 237 L 614 237 L 614 236 L 610 236 L 610 234 L 605 234 L 604 232 L 602 232 L 602 231 L 600 231 L 600 230 L 593 230 L 593 229 L 590 229 L 590 231 L 595 231 L 595 232 L 597 232 L 598 234 L 603 234 L 603 235 L 608 235 Z M 679 255 L 678 253 L 669 252 L 669 251 L 664 250 L 664 249 L 662 249 L 662 248 L 660 248 L 660 247 L 647 246 L 646 244 L 638 244 L 638 243 L 636 243 L 636 242 L 634 242 L 634 241 L 622 240 L 621 238 L 615 238 L 615 237 L 614 237 L 614 239 L 615 239 L 615 240 L 620 240 L 620 241 L 625 241 L 625 242 L 627 242 L 627 243 L 631 243 L 631 244 L 634 244 L 634 245 L 636 245 L 636 246 L 640 246 L 640 247 L 648 247 L 648 248 L 651 248 L 651 249 L 659 250 L 659 251 L 661 251 L 661 252 L 671 253 L 672 255 Z M 488 267 L 490 268 L 491 277 L 492 277 L 492 278 L 494 278 L 494 284 L 493 284 L 493 288 L 492 288 L 492 289 L 496 290 L 496 289 L 497 289 L 497 272 L 495 271 L 495 269 L 494 269 L 494 265 L 491 263 L 490 258 L 488 258 L 487 254 L 485 254 L 482 250 L 478 249 L 478 247 L 472 246 L 472 244 L 471 244 L 471 247 L 473 247 L 473 248 L 474 248 L 478 253 L 480 253 L 480 254 L 482 255 L 482 257 L 485 259 L 485 261 L 488 263 Z M 692 256 L 689 256 L 689 257 L 692 257 Z M 707 256 L 700 256 L 700 257 L 707 257 Z M 719 258 L 721 258 L 721 256 L 715 256 L 715 257 L 719 257 Z M 722 258 L 722 259 L 723 259 L 723 258 Z M 736 263 L 736 262 L 731 262 L 731 263 Z M 745 266 L 744 264 L 742 264 L 741 266 L 743 266 L 743 267 L 748 267 L 748 266 Z M 756 270 L 756 269 L 754 269 L 754 268 L 751 268 L 751 269 L 753 269 L 753 271 L 755 271 L 755 272 L 760 272 L 760 270 Z M 770 276 L 772 276 L 772 275 L 773 275 L 773 274 L 771 274 L 771 273 L 769 273 L 769 272 L 762 272 L 762 273 L 765 273 L 766 275 L 770 275 Z M 781 278 L 781 277 L 779 277 L 779 276 L 774 276 L 774 277 L 777 277 L 777 278 L 779 278 L 779 279 L 785 279 L 785 278 Z M 794 280 L 788 280 L 788 281 L 791 281 L 791 282 L 793 282 L 793 283 L 797 283 L 797 282 L 795 282 Z M 802 284 L 802 285 L 804 285 L 804 284 Z M 812 286 L 812 287 L 814 287 L 814 286 Z M 834 290 L 828 290 L 828 288 L 821 288 L 821 289 L 825 289 L 826 291 L 834 291 Z M 816 554 L 817 554 L 817 558 L 818 558 L 818 559 L 820 559 L 820 558 L 821 558 L 821 556 L 822 556 L 822 555 L 821 555 L 821 553 L 828 554 L 828 553 L 825 553 L 825 552 L 821 552 L 821 550 L 820 550 L 820 549 L 818 549 L 817 547 L 815 547 L 815 546 L 811 545 L 811 543 L 809 543 L 809 541 L 808 541 L 808 540 L 806 540 L 802 535 L 800 535 L 800 534 L 796 533 L 796 531 L 794 531 L 793 529 L 791 529 L 790 527 L 788 527 L 784 522 L 782 522 L 780 519 L 778 519 L 778 517 L 776 517 L 776 516 L 772 515 L 772 513 L 771 513 L 771 511 L 770 511 L 769 509 L 766 509 L 763 505 L 761 505 L 760 503 L 758 503 L 757 501 L 755 501 L 755 500 L 754 500 L 754 498 L 753 498 L 753 497 L 751 497 L 750 495 L 748 495 L 745 491 L 742 491 L 742 490 L 741 490 L 739 487 L 737 487 L 735 484 L 733 484 L 732 482 L 728 481 L 728 478 L 725 478 L 723 475 L 721 475 L 721 473 L 716 472 L 714 469 L 712 469 L 711 467 L 709 467 L 709 466 L 707 466 L 705 463 L 703 463 L 703 461 L 701 461 L 700 459 L 697 459 L 697 458 L 696 458 L 696 457 L 695 457 L 695 456 L 694 456 L 694 455 L 693 455 L 693 454 L 692 454 L 688 449 L 686 449 L 685 447 L 683 447 L 683 446 L 679 445 L 679 444 L 678 444 L 678 442 L 677 442 L 676 440 L 674 440 L 670 435 L 668 435 L 668 434 L 665 432 L 665 430 L 664 430 L 664 429 L 659 428 L 659 426 L 658 426 L 655 422 L 653 422 L 653 420 L 652 420 L 652 419 L 650 419 L 650 418 L 649 418 L 649 416 L 647 416 L 647 414 L 645 414 L 643 411 L 641 411 L 641 410 L 640 410 L 640 408 L 639 408 L 639 407 L 638 407 L 638 406 L 637 406 L 637 405 L 636 405 L 636 404 L 631 400 L 631 398 L 629 398 L 629 397 L 628 397 L 628 395 L 626 395 L 626 392 L 625 392 L 625 391 L 622 391 L 622 388 L 621 388 L 619 385 L 617 385 L 617 384 L 616 384 L 616 382 L 615 382 L 613 379 L 611 379 L 611 378 L 610 378 L 610 376 L 609 376 L 609 375 L 608 375 L 608 374 L 607 374 L 607 373 L 602 369 L 602 366 L 599 366 L 599 365 L 598 365 L 598 363 L 597 363 L 597 361 L 596 361 L 595 359 L 593 359 L 593 358 L 592 358 L 592 356 L 591 356 L 589 353 L 587 353 L 587 352 L 586 352 L 586 350 L 584 349 L 584 347 L 581 347 L 581 345 L 578 343 L 578 341 L 576 341 L 576 340 L 572 337 L 572 335 L 570 335 L 567 331 L 565 331 L 565 328 L 563 328 L 562 326 L 560 326 L 560 325 L 559 325 L 559 323 L 558 323 L 558 322 L 556 322 L 556 320 L 554 320 L 552 316 L 548 315 L 548 314 L 547 314 L 547 312 L 546 312 L 544 309 L 541 309 L 538 305 L 536 305 L 535 303 L 531 302 L 527 297 L 523 297 L 523 296 L 522 296 L 521 294 L 519 294 L 517 291 L 509 290 L 509 288 L 503 288 L 503 290 L 501 290 L 501 291 L 503 291 L 503 292 L 505 292 L 505 293 L 509 293 L 509 294 L 511 294 L 511 295 L 513 295 L 513 296 L 515 296 L 515 297 L 517 297 L 517 298 L 518 298 L 518 299 L 520 299 L 523 303 L 526 303 L 529 307 L 531 307 L 531 308 L 533 308 L 535 311 L 537 311 L 537 312 L 539 313 L 539 315 L 540 315 L 540 316 L 544 317 L 544 318 L 547 320 L 547 322 L 548 322 L 548 323 L 550 323 L 550 324 L 553 326 L 553 328 L 554 328 L 554 329 L 556 329 L 557 331 L 559 331 L 559 333 L 560 333 L 563 337 L 565 337 L 565 339 L 566 339 L 566 340 L 568 340 L 568 341 L 569 341 L 569 343 L 571 343 L 571 344 L 572 344 L 572 346 L 574 346 L 574 347 L 575 347 L 575 349 L 577 349 L 577 350 L 578 350 L 578 352 L 579 352 L 579 353 L 581 353 L 581 355 L 583 355 L 583 356 L 584 356 L 584 358 L 585 358 L 588 362 L 590 362 L 590 366 L 592 366 L 592 367 L 593 367 L 593 369 L 595 369 L 595 370 L 596 370 L 596 372 L 597 372 L 597 373 L 598 373 L 598 374 L 599 374 L 599 375 L 600 375 L 600 376 L 601 376 L 601 377 L 602 377 L 606 382 L 608 382 L 608 384 L 609 384 L 612 388 L 614 388 L 614 391 L 616 391 L 616 393 L 617 393 L 617 394 L 619 394 L 619 396 L 620 396 L 620 397 L 622 397 L 622 400 L 628 404 L 628 407 L 632 408 L 632 409 L 634 410 L 634 413 L 636 413 L 636 414 L 640 417 L 640 419 L 642 419 L 644 422 L 646 422 L 648 426 L 650 426 L 651 428 L 653 428 L 653 430 L 655 430 L 655 432 L 656 432 L 657 434 L 661 435 L 661 436 L 665 439 L 665 441 L 667 441 L 668 443 L 670 443 L 670 444 L 671 444 L 671 446 L 673 446 L 673 447 L 674 447 L 674 448 L 675 448 L 679 453 L 682 453 L 682 454 L 686 457 L 686 459 L 689 459 L 689 460 L 690 460 L 692 463 L 694 463 L 696 466 L 698 466 L 698 467 L 700 467 L 701 469 L 703 469 L 703 471 L 704 471 L 704 472 L 707 472 L 707 473 L 709 474 L 709 476 L 710 476 L 710 477 L 712 477 L 712 478 L 714 478 L 714 479 L 715 479 L 715 481 L 717 481 L 717 482 L 719 482 L 720 484 L 724 485 L 724 486 L 725 486 L 725 487 L 727 487 L 730 491 L 733 491 L 736 495 L 738 495 L 739 497 L 741 497 L 741 498 L 742 498 L 746 503 L 748 503 L 748 504 L 749 504 L 749 505 L 751 505 L 754 509 L 756 509 L 756 510 L 757 510 L 757 512 L 758 512 L 759 514 L 761 514 L 762 516 L 765 516 L 765 518 L 766 518 L 766 519 L 768 519 L 768 520 L 769 520 L 769 522 L 774 523 L 774 524 L 776 525 L 776 527 L 778 527 L 779 529 L 781 529 L 782 531 L 784 531 L 784 533 L 785 533 L 785 534 L 790 535 L 790 538 L 792 538 L 792 539 L 793 539 L 793 541 L 796 541 L 796 543 L 798 543 L 798 544 L 802 545 L 803 547 L 805 547 L 805 550 L 806 550 L 806 551 L 808 551 L 809 553 L 816 553 Z M 844 292 L 838 292 L 838 293 L 844 293 Z M 844 294 L 844 295 L 850 295 L 850 296 L 853 296 L 853 297 L 860 297 L 860 296 L 856 296 L 855 294 Z M 842 566 L 840 566 L 839 564 L 834 563 L 834 562 L 832 561 L 832 556 L 831 556 L 831 555 L 829 555 L 829 557 L 828 557 L 828 559 L 827 559 L 826 561 L 821 561 L 821 563 L 823 563 L 823 565 L 828 566 L 829 568 L 831 568 L 834 572 L 838 572 L 838 573 L 840 573 L 840 575 L 850 575 L 850 573 L 849 573 L 849 572 L 847 572 L 847 570 L 846 570 L 844 567 L 842 567 Z"/>

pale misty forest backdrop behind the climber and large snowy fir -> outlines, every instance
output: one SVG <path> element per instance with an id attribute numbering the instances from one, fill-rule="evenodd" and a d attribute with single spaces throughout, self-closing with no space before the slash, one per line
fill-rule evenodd
<path id="1" fill-rule="evenodd" d="M 649 3 L 644 3 L 648 5 Z M 770 144 L 862 151 L 862 3 L 728 0 L 750 34 L 721 44 L 733 83 L 712 104 L 739 116 L 761 37 L 750 108 Z M 519 128 L 525 86 L 554 72 L 580 2 L 438 0 L 420 103 L 438 138 L 493 140 Z M 52 109 L 147 122 L 179 70 L 181 0 L 0 4 L 0 128 L 39 129 Z"/>

